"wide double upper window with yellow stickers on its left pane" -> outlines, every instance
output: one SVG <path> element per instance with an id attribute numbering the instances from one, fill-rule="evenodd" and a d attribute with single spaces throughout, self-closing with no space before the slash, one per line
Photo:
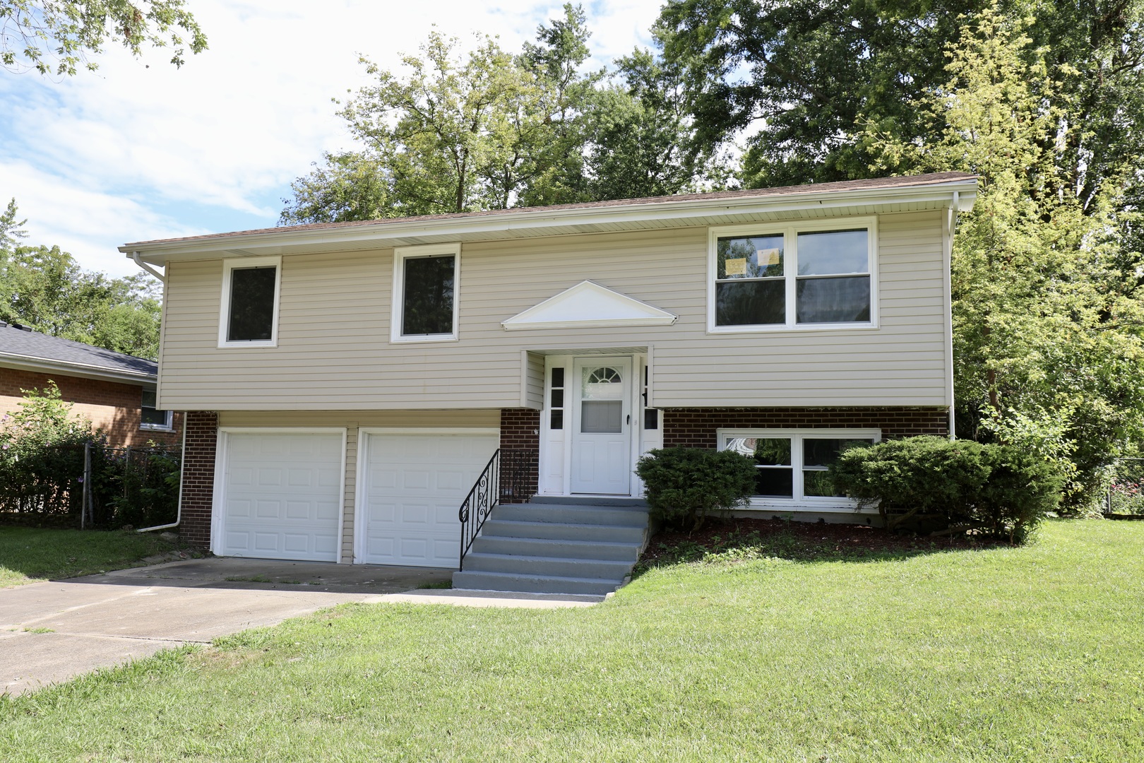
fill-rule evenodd
<path id="1" fill-rule="evenodd" d="M 708 328 L 851 328 L 876 325 L 871 217 L 710 231 Z"/>

